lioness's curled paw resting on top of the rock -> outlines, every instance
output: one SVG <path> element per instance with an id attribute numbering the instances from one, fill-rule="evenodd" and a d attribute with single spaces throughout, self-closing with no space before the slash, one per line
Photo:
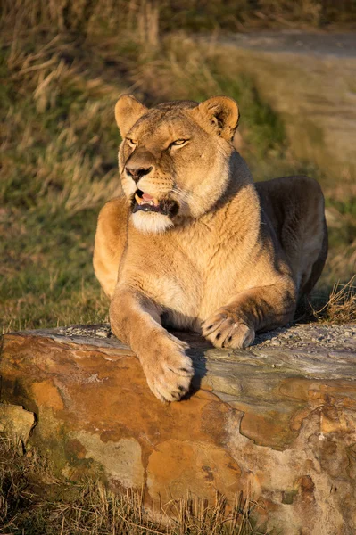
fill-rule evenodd
<path id="1" fill-rule="evenodd" d="M 251 345 L 254 329 L 239 321 L 228 309 L 219 309 L 202 324 L 203 336 L 216 348 L 239 350 Z"/>

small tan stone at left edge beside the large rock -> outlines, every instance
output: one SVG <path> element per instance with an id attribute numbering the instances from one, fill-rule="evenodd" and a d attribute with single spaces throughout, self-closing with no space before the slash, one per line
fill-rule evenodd
<path id="1" fill-rule="evenodd" d="M 36 417 L 33 413 L 18 405 L 0 403 L 0 433 L 10 435 L 15 443 L 21 440 L 26 444 L 35 425 Z"/>

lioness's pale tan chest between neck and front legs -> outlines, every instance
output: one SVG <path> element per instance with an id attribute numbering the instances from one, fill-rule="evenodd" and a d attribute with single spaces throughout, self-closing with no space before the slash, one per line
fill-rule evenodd
<path id="1" fill-rule="evenodd" d="M 160 305 L 168 324 L 199 330 L 241 291 L 245 246 L 206 232 L 178 238 L 156 236 L 149 247 L 145 241 L 131 243 L 121 277 Z"/>

